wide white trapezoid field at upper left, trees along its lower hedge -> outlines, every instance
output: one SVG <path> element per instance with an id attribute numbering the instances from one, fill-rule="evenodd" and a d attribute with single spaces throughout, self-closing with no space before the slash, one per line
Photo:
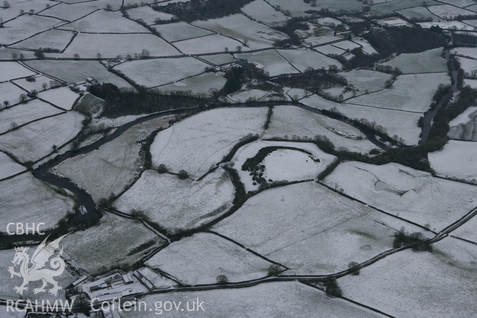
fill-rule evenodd
<path id="1" fill-rule="evenodd" d="M 100 53 L 103 58 L 113 58 L 117 55 L 125 57 L 127 54 L 134 56 L 134 53 L 139 54 L 146 48 L 151 56 L 180 55 L 172 45 L 154 34 L 88 33 L 79 33 L 62 54 L 47 55 L 72 58 L 76 53 L 82 58 L 96 58 L 96 54 Z"/>

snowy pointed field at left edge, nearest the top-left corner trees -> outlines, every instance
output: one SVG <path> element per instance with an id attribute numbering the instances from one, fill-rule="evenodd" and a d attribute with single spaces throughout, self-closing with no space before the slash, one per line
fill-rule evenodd
<path id="1" fill-rule="evenodd" d="M 26 39 L 33 34 L 46 31 L 52 27 L 66 23 L 50 17 L 42 17 L 34 14 L 23 14 L 18 18 L 5 22 L 0 33 L 0 43 L 12 44 Z"/>

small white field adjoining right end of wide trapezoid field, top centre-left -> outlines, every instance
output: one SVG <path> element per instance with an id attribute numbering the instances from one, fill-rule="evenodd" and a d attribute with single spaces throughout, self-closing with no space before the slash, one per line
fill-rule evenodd
<path id="1" fill-rule="evenodd" d="M 235 49 L 237 46 L 243 47 L 243 51 L 249 51 L 249 48 L 242 42 L 221 34 L 211 34 L 200 38 L 178 41 L 174 42 L 174 45 L 186 54 L 224 52 L 226 47 L 229 51 L 237 51 Z"/>

